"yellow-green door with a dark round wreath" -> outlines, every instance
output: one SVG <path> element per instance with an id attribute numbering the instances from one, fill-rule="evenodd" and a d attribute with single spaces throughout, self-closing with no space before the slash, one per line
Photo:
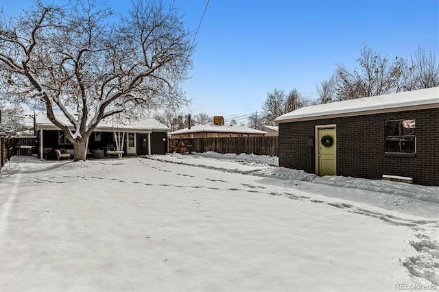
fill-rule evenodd
<path id="1" fill-rule="evenodd" d="M 318 174 L 337 174 L 335 128 L 318 130 Z"/>

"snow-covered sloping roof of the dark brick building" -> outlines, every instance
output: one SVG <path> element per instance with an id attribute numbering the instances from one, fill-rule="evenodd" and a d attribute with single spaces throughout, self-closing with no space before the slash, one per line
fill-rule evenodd
<path id="1" fill-rule="evenodd" d="M 422 108 L 439 108 L 439 87 L 305 106 L 283 114 L 274 121 L 288 123 Z"/>

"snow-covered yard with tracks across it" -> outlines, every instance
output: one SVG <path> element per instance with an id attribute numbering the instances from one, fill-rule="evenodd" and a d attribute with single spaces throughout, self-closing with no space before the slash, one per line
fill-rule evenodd
<path id="1" fill-rule="evenodd" d="M 0 175 L 1 291 L 439 289 L 439 188 L 215 153 Z"/>

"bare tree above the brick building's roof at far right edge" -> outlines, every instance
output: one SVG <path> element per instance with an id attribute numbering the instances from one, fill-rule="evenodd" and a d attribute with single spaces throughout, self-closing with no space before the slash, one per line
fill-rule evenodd
<path id="1" fill-rule="evenodd" d="M 411 65 L 405 69 L 404 90 L 416 90 L 439 86 L 439 64 L 434 52 L 427 55 L 425 49 L 418 47 L 410 56 Z"/>

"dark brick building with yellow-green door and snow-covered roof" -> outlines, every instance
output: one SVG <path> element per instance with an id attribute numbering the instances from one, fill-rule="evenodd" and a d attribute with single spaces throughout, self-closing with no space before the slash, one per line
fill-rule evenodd
<path id="1" fill-rule="evenodd" d="M 439 88 L 307 106 L 276 119 L 279 166 L 439 186 Z"/>

